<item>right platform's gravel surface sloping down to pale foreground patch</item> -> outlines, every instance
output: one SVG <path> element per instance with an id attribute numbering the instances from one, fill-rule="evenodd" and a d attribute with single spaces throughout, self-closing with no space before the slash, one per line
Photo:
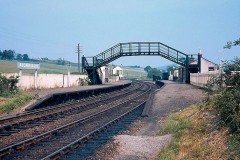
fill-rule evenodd
<path id="1" fill-rule="evenodd" d="M 143 126 L 133 134 L 117 135 L 113 143 L 117 146 L 115 155 L 104 159 L 154 159 L 158 151 L 171 141 L 172 135 L 156 136 L 160 130 L 160 120 L 170 113 L 179 111 L 201 101 L 203 91 L 188 84 L 163 81 L 165 85 L 152 98 L 148 117 L 143 119 Z"/>

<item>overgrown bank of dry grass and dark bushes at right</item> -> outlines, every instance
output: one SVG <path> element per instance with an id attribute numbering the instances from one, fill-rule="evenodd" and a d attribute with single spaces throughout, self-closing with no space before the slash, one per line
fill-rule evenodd
<path id="1" fill-rule="evenodd" d="M 239 159 L 240 59 L 223 68 L 208 82 L 204 102 L 165 120 L 160 134 L 174 136 L 157 159 Z"/>

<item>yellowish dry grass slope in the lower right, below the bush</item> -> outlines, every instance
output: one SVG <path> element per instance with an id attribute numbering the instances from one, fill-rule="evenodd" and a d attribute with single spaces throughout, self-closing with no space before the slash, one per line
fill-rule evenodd
<path id="1" fill-rule="evenodd" d="M 158 160 L 240 159 L 240 136 L 219 127 L 213 104 L 192 105 L 167 117 L 159 135 L 173 134 Z"/>

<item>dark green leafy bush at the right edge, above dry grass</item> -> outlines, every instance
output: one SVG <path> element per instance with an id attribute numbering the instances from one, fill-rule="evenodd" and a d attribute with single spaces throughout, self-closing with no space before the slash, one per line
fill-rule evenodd
<path id="1" fill-rule="evenodd" d="M 219 86 L 213 101 L 220 124 L 229 127 L 230 133 L 240 134 L 240 59 L 226 62 L 224 70 L 221 76 L 209 82 L 210 86 Z"/>

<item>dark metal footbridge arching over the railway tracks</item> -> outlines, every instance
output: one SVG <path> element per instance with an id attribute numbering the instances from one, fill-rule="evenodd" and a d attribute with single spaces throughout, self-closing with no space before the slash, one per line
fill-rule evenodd
<path id="1" fill-rule="evenodd" d="M 101 83 L 97 69 L 123 56 L 161 56 L 186 68 L 189 83 L 189 55 L 160 42 L 119 43 L 93 57 L 82 57 L 83 71 L 87 71 L 93 84 Z"/>

